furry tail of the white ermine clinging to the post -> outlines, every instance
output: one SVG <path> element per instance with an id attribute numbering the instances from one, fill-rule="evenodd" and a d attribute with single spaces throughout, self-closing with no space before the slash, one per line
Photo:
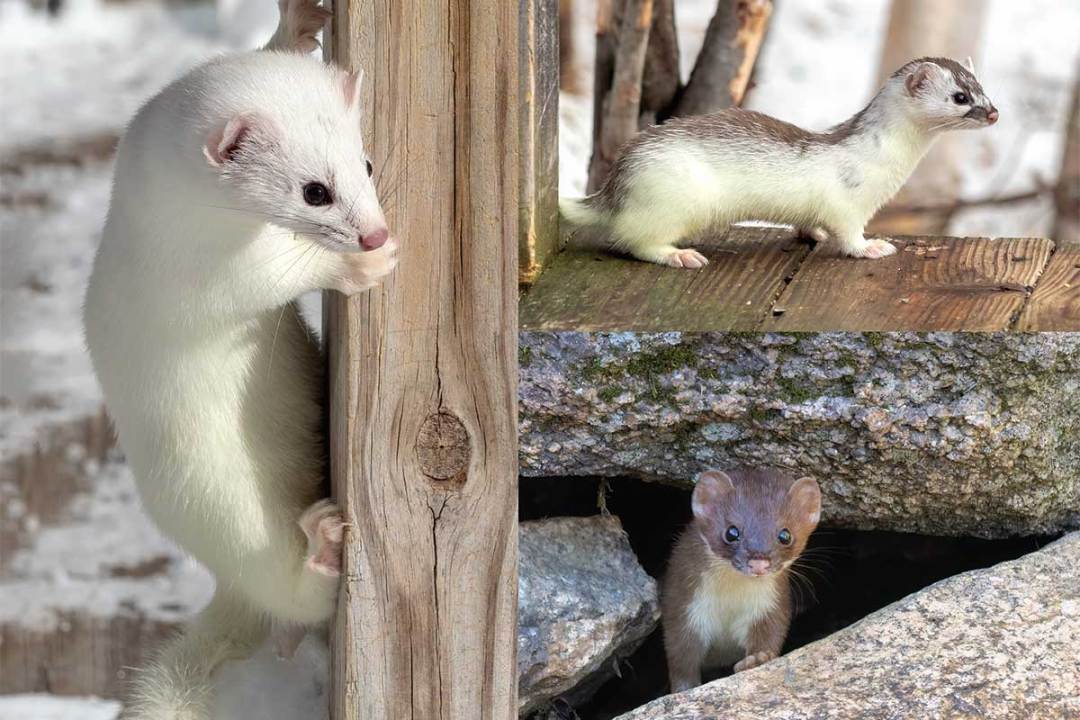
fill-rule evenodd
<path id="1" fill-rule="evenodd" d="M 135 676 L 122 720 L 218 720 L 213 674 L 247 657 L 269 631 L 265 615 L 218 589 L 211 603 Z"/>

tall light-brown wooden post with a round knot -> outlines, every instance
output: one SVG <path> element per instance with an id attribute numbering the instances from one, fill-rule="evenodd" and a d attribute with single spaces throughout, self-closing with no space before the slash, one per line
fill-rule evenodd
<path id="1" fill-rule="evenodd" d="M 327 301 L 335 720 L 517 714 L 518 10 L 339 0 L 401 262 Z"/>

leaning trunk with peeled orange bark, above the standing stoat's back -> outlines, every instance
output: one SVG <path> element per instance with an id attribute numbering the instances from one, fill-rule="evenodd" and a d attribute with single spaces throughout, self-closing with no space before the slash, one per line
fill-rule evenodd
<path id="1" fill-rule="evenodd" d="M 770 15 L 771 0 L 719 0 L 672 116 L 704 114 L 742 104 Z"/>

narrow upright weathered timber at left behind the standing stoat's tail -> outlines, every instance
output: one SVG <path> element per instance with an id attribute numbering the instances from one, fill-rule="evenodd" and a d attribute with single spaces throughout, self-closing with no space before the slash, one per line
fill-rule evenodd
<path id="1" fill-rule="evenodd" d="M 558 0 L 521 3 L 523 285 L 558 252 Z"/>

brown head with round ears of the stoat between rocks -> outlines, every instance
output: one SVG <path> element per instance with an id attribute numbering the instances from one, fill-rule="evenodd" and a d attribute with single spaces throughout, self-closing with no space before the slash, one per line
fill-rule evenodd
<path id="1" fill-rule="evenodd" d="M 821 516 L 821 490 L 812 477 L 792 480 L 774 471 L 698 476 L 691 499 L 694 521 L 711 553 L 739 572 L 768 575 L 794 562 Z"/>

